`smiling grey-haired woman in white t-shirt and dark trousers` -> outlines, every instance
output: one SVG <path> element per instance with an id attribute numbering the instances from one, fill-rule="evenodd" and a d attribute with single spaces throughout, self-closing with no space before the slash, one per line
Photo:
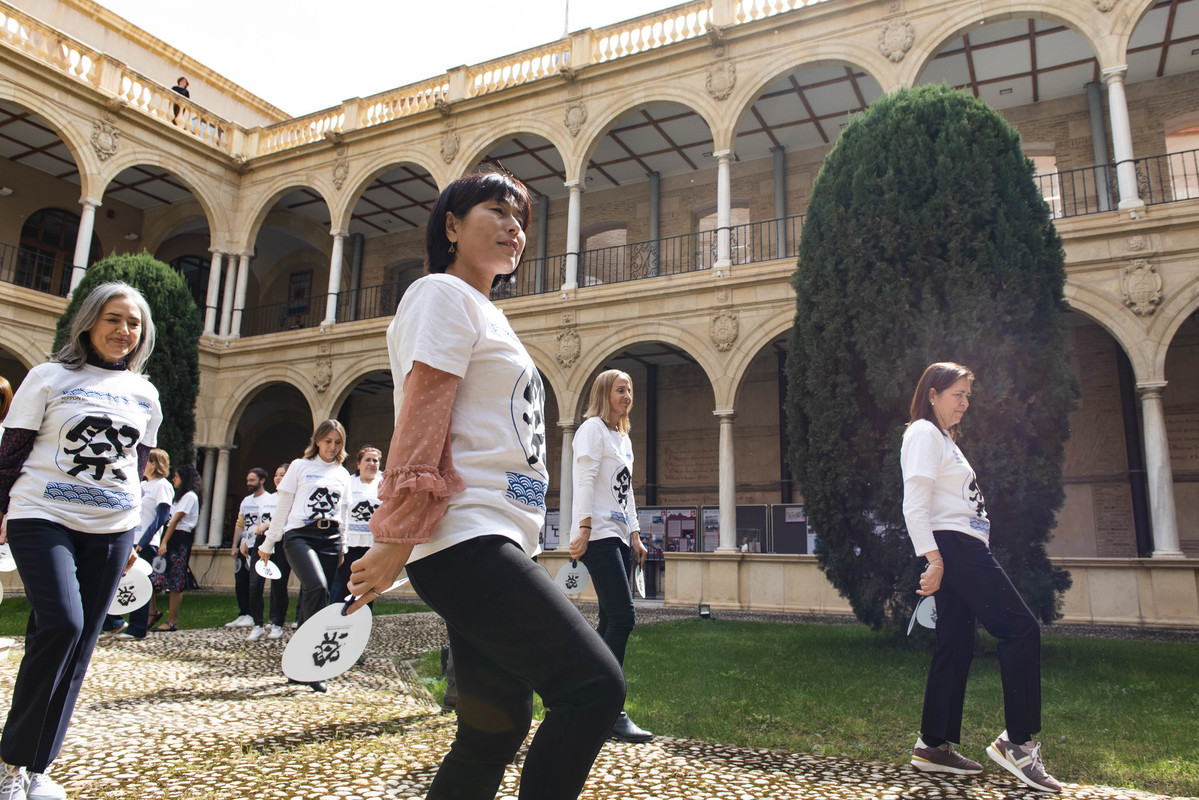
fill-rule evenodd
<path id="1" fill-rule="evenodd" d="M 145 297 L 110 282 L 79 303 L 67 344 L 29 371 L 0 441 L 0 541 L 32 608 L 0 739 L 0 796 L 65 796 L 46 775 L 121 572 L 132 566 L 158 390 L 143 375 Z"/>

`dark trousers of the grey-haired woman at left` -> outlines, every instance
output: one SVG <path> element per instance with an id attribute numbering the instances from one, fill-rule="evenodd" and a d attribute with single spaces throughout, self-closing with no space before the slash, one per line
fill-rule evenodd
<path id="1" fill-rule="evenodd" d="M 133 534 L 85 534 L 43 519 L 8 521 L 8 547 L 31 610 L 0 739 L 5 764 L 44 772 L 58 757 Z"/>

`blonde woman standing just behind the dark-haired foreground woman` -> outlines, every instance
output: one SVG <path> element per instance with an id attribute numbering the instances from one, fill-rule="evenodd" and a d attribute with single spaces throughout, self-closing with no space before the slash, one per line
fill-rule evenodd
<path id="1" fill-rule="evenodd" d="M 628 573 L 635 559 L 645 564 L 641 524 L 633 500 L 633 443 L 628 413 L 633 409 L 633 379 L 607 369 L 591 384 L 586 419 L 574 433 L 574 519 L 571 558 L 583 561 L 600 601 L 596 632 L 623 666 L 628 634 L 637 624 Z M 621 741 L 650 741 L 623 711 L 611 735 Z"/>

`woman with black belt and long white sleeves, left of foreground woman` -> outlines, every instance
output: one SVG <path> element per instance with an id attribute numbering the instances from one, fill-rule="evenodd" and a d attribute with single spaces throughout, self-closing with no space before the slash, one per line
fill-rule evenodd
<path id="1" fill-rule="evenodd" d="M 345 428 L 337 420 L 317 426 L 303 451 L 276 492 L 271 527 L 258 546 L 258 558 L 270 560 L 283 540 L 291 571 L 300 578 L 300 619 L 329 604 L 329 590 L 345 555 L 350 521 L 350 474 L 345 462 Z M 324 692 L 325 681 L 309 684 Z"/>

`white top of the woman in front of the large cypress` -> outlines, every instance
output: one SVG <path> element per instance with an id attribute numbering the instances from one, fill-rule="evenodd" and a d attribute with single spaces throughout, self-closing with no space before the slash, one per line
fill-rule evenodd
<path id="1" fill-rule="evenodd" d="M 957 444 L 928 420 L 916 420 L 903 434 L 903 513 L 917 554 L 936 549 L 934 530 L 956 530 L 990 543 L 987 501 L 970 462 Z M 932 479 L 932 493 L 912 479 Z"/>

